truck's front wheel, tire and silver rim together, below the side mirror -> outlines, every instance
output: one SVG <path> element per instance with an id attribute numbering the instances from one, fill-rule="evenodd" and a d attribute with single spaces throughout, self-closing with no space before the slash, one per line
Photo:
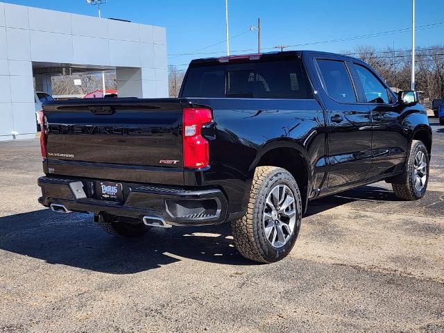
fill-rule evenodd
<path id="1" fill-rule="evenodd" d="M 429 153 L 422 142 L 411 142 L 406 168 L 406 180 L 402 184 L 392 184 L 393 191 L 402 200 L 418 200 L 425 195 L 429 182 Z"/>

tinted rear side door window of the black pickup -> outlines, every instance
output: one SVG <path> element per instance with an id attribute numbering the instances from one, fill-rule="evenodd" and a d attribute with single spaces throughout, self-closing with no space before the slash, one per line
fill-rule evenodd
<path id="1" fill-rule="evenodd" d="M 321 70 L 327 94 L 339 102 L 356 102 L 355 89 L 344 62 L 338 60 L 316 60 Z"/>

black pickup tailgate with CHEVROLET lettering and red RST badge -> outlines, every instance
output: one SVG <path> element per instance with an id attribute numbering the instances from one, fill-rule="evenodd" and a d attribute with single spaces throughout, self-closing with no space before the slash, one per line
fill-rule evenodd
<path id="1" fill-rule="evenodd" d="M 44 115 L 49 173 L 94 177 L 100 166 L 95 178 L 112 169 L 105 178 L 156 182 L 140 171 L 182 171 L 180 99 L 53 102 Z"/>

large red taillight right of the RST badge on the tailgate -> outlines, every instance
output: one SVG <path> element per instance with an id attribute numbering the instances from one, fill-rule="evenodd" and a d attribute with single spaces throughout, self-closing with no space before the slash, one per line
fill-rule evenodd
<path id="1" fill-rule="evenodd" d="M 200 169 L 210 164 L 210 148 L 201 135 L 202 126 L 213 120 L 210 109 L 183 109 L 183 166 Z"/>

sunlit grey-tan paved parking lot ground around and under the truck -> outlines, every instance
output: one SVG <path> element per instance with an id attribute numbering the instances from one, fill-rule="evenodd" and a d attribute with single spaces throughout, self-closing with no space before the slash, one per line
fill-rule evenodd
<path id="1" fill-rule="evenodd" d="M 0 332 L 444 332 L 444 127 L 427 196 L 379 182 L 312 201 L 287 259 L 228 225 L 105 234 L 37 203 L 37 139 L 0 143 Z"/>

